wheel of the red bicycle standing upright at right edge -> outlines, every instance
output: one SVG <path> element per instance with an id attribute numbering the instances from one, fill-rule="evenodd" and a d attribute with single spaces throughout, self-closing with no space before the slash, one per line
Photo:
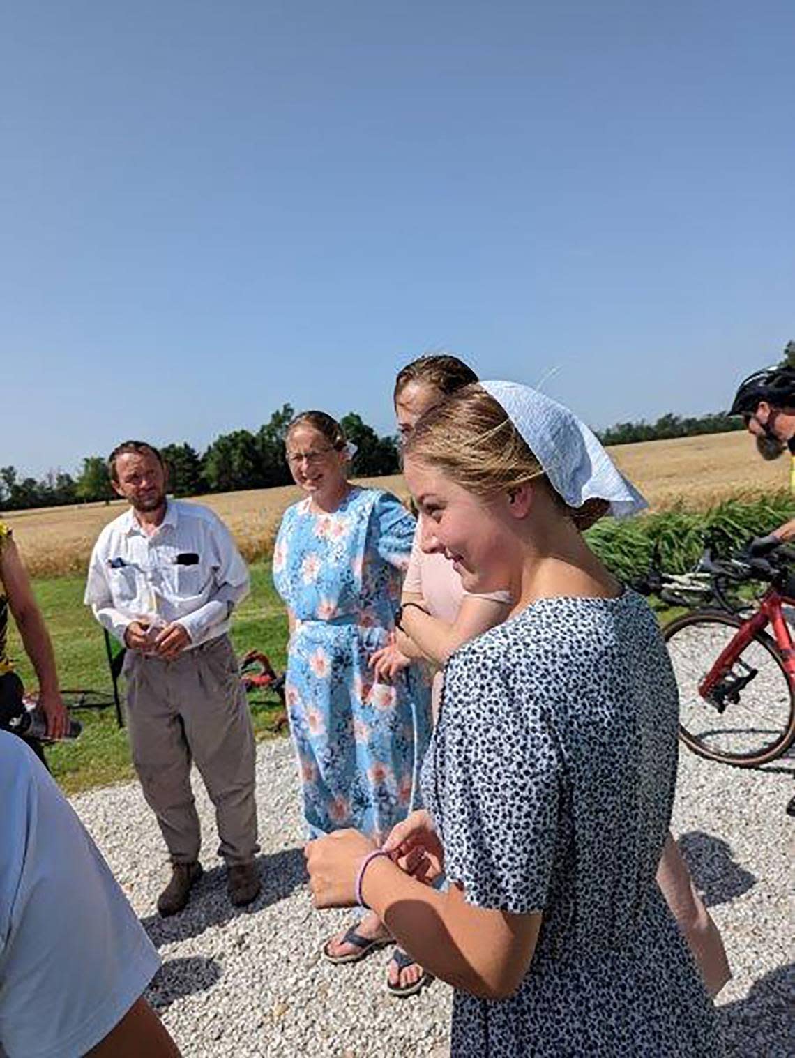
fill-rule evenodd
<path id="1" fill-rule="evenodd" d="M 774 639 L 760 632 L 707 697 L 699 687 L 744 622 L 695 612 L 663 630 L 680 694 L 680 737 L 712 761 L 753 768 L 795 741 L 795 694 Z"/>

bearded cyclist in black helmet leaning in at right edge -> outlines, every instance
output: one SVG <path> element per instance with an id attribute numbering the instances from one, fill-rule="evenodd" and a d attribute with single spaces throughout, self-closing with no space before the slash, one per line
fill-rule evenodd
<path id="1" fill-rule="evenodd" d="M 740 383 L 728 414 L 742 416 L 764 459 L 776 459 L 789 449 L 795 473 L 795 367 L 763 367 L 754 371 Z M 755 549 L 764 550 L 764 544 L 769 549 L 792 540 L 795 540 L 795 518 L 754 545 Z"/>

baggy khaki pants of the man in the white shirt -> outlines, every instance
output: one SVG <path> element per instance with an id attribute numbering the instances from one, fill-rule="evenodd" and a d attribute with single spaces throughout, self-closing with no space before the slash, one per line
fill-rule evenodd
<path id="1" fill-rule="evenodd" d="M 144 797 L 175 863 L 198 859 L 195 761 L 215 805 L 219 855 L 248 863 L 258 852 L 254 732 L 232 644 L 219 636 L 174 661 L 128 651 L 127 725 Z"/>

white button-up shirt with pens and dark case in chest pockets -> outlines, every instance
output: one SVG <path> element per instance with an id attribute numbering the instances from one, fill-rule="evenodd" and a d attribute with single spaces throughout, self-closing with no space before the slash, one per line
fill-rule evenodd
<path id="1" fill-rule="evenodd" d="M 198 646 L 229 631 L 232 608 L 248 592 L 248 568 L 221 519 L 206 507 L 169 499 L 151 536 L 131 510 L 103 529 L 85 602 L 122 643 L 131 621 L 179 621 Z"/>

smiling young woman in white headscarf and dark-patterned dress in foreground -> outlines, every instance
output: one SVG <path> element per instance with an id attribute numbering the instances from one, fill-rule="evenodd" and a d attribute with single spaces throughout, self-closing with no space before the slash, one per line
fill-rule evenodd
<path id="1" fill-rule="evenodd" d="M 363 902 L 455 987 L 452 1058 L 713 1058 L 715 1009 L 655 882 L 677 760 L 654 615 L 581 530 L 642 506 L 593 434 L 526 386 L 467 386 L 417 424 L 423 547 L 507 621 L 459 647 L 384 849 L 307 847 L 318 907 Z M 444 870 L 450 888 L 427 884 Z"/>

